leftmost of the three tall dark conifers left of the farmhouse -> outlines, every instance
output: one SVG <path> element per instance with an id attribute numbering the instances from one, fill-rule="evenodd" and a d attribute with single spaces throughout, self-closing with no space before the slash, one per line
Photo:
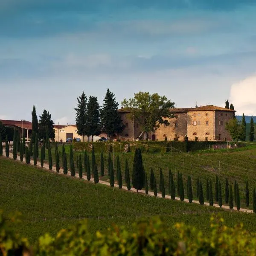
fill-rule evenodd
<path id="1" fill-rule="evenodd" d="M 84 92 L 77 98 L 75 111 L 77 133 L 82 136 L 84 142 L 84 136 L 87 136 L 87 96 Z"/>

